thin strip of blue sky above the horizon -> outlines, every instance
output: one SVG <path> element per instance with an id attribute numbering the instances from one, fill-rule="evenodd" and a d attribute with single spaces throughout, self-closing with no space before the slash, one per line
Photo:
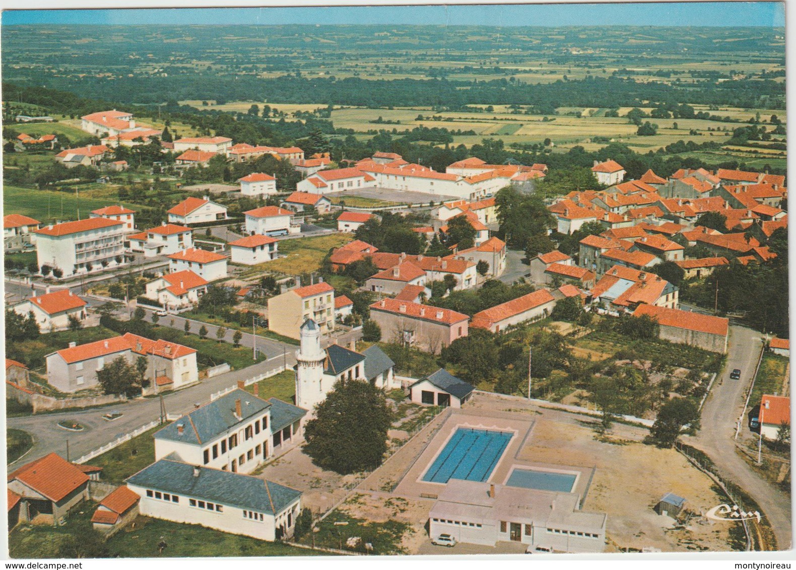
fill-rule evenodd
<path id="1" fill-rule="evenodd" d="M 146 1 L 146 0 L 145 0 Z M 123 0 L 122 0 L 123 2 Z M 192 2 L 197 6 L 202 0 Z M 75 5 L 77 2 L 72 2 Z M 170 2 L 174 3 L 178 2 Z M 216 2 L 205 2 L 216 3 Z M 7 7 L 42 2 L 6 2 Z M 88 2 L 81 2 L 86 6 Z M 90 4 L 89 4 L 90 5 Z M 139 2 L 140 5 L 140 2 Z M 784 26 L 783 2 L 495 4 L 468 6 L 322 6 L 129 10 L 5 10 L 2 25 L 691 25 Z"/>

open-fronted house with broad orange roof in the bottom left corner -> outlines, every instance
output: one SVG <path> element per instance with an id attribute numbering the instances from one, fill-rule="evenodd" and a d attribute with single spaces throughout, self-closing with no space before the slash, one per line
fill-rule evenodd
<path id="1" fill-rule="evenodd" d="M 51 453 L 11 471 L 6 487 L 19 504 L 20 522 L 56 525 L 88 499 L 88 480 L 80 467 Z"/>

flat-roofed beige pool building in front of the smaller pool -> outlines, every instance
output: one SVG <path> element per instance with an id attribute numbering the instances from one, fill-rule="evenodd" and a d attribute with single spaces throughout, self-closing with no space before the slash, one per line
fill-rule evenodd
<path id="1" fill-rule="evenodd" d="M 556 552 L 602 552 L 607 516 L 579 509 L 574 493 L 450 479 L 431 507 L 431 537 L 494 546 L 519 541 Z"/>

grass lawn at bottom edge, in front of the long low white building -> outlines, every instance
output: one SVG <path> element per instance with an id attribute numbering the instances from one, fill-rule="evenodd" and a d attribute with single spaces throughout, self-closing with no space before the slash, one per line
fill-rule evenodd
<path id="1" fill-rule="evenodd" d="M 158 553 L 163 537 L 166 549 Z M 192 556 L 329 556 L 326 552 L 297 549 L 278 542 L 222 533 L 200 525 L 182 525 L 139 517 L 135 529 L 124 529 L 107 543 L 108 554 L 121 558 L 186 558 Z"/>

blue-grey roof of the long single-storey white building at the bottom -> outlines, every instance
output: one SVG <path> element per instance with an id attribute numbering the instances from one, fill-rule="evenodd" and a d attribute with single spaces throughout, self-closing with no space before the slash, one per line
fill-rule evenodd
<path id="1" fill-rule="evenodd" d="M 252 475 L 199 467 L 199 475 L 194 477 L 193 469 L 189 463 L 161 459 L 127 478 L 127 482 L 268 514 L 282 512 L 301 496 L 299 490 Z"/>

